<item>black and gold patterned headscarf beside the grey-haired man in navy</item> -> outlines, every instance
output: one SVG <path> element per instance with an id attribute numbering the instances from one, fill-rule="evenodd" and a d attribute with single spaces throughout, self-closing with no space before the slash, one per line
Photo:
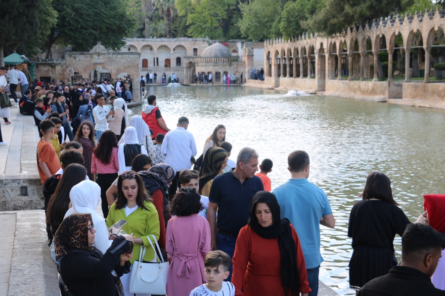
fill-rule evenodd
<path id="1" fill-rule="evenodd" d="M 229 153 L 220 147 L 212 147 L 206 151 L 199 169 L 199 188 L 204 188 L 207 182 L 218 176 L 228 155 Z"/>

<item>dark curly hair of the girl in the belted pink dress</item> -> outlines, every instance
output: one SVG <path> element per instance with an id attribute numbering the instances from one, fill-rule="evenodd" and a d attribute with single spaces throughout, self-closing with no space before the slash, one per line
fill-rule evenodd
<path id="1" fill-rule="evenodd" d="M 181 187 L 170 204 L 170 213 L 178 217 L 198 214 L 203 209 L 201 195 L 196 192 L 194 187 Z"/>

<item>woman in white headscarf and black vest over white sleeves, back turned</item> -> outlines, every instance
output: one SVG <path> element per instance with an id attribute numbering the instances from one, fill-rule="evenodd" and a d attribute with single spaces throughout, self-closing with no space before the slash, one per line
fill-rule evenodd
<path id="1" fill-rule="evenodd" d="M 132 169 L 133 159 L 136 155 L 148 155 L 147 149 L 140 144 L 137 138 L 137 131 L 134 126 L 129 126 L 125 129 L 121 141 L 119 142 L 121 144 L 119 144 L 118 148 L 119 174 Z"/>

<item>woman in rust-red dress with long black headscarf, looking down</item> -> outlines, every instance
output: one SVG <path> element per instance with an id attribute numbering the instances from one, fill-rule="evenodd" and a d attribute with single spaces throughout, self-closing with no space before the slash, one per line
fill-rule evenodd
<path id="1" fill-rule="evenodd" d="M 307 296 L 311 288 L 300 240 L 289 220 L 280 219 L 275 195 L 258 191 L 247 223 L 232 259 L 235 296 Z"/>

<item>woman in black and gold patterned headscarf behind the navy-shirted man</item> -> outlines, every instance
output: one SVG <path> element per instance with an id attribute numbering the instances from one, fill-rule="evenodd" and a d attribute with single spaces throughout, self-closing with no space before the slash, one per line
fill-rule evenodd
<path id="1" fill-rule="evenodd" d="M 213 179 L 222 174 L 222 170 L 227 166 L 229 154 L 219 147 L 212 147 L 206 151 L 199 169 L 199 194 L 209 196 Z"/>

